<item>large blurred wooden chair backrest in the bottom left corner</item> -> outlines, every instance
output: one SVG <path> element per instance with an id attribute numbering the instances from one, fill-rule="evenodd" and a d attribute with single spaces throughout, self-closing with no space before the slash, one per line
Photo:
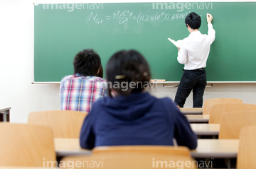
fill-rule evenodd
<path id="1" fill-rule="evenodd" d="M 43 167 L 56 161 L 50 127 L 0 123 L 0 166 Z"/>

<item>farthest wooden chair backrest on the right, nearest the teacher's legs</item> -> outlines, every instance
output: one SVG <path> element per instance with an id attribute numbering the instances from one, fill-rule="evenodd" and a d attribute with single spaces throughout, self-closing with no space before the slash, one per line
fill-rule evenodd
<path id="1" fill-rule="evenodd" d="M 203 101 L 203 115 L 210 114 L 210 107 L 220 103 L 242 103 L 238 98 L 211 98 Z"/>

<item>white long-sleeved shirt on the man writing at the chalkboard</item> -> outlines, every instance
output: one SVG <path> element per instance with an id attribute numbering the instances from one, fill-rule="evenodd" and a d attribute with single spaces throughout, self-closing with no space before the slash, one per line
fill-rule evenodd
<path id="1" fill-rule="evenodd" d="M 210 52 L 210 45 L 215 40 L 213 25 L 208 23 L 208 35 L 194 31 L 182 40 L 178 52 L 178 62 L 184 64 L 185 70 L 194 70 L 206 67 L 206 61 Z"/>

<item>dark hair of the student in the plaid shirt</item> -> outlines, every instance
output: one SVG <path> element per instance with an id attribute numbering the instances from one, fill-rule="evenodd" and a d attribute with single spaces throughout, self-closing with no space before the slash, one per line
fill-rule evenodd
<path id="1" fill-rule="evenodd" d="M 101 66 L 101 59 L 93 49 L 83 49 L 76 54 L 73 66 L 74 74 L 97 76 L 97 72 Z"/>

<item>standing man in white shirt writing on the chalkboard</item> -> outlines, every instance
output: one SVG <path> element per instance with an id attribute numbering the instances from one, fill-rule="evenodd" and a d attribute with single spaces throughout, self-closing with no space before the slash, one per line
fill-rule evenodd
<path id="1" fill-rule="evenodd" d="M 186 16 L 185 23 L 190 35 L 182 40 L 178 48 L 178 62 L 184 64 L 183 75 L 178 85 L 174 102 L 183 107 L 186 98 L 193 90 L 193 107 L 202 107 L 203 93 L 206 88 L 206 61 L 210 52 L 210 45 L 215 40 L 215 30 L 211 21 L 213 16 L 207 13 L 208 35 L 198 30 L 201 17 L 191 12 Z"/>

